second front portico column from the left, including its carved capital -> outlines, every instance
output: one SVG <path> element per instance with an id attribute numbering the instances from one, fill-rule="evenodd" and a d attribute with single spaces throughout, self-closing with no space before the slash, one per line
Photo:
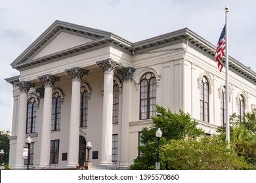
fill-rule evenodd
<path id="1" fill-rule="evenodd" d="M 41 135 L 41 153 L 39 167 L 47 167 L 50 161 L 51 150 L 51 109 L 53 98 L 54 82 L 60 80 L 60 77 L 53 75 L 38 76 L 38 79 L 45 84 L 44 102 L 43 102 L 43 125 Z"/>

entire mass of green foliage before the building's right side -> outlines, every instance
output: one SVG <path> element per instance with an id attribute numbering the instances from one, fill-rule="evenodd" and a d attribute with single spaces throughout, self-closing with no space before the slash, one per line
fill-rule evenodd
<path id="1" fill-rule="evenodd" d="M 246 114 L 240 125 L 236 121 L 238 116 L 234 116 L 227 148 L 224 127 L 219 127 L 219 135 L 204 137 L 203 130 L 196 127 L 198 123 L 189 114 L 182 110 L 175 114 L 160 106 L 156 109 L 152 126 L 142 129 L 144 146 L 139 146 L 140 156 L 133 160 L 130 169 L 155 169 L 158 128 L 163 132 L 161 169 L 255 169 L 255 114 Z"/>

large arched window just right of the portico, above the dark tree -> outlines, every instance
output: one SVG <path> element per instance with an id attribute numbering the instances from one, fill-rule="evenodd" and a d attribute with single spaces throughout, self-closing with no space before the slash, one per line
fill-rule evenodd
<path id="1" fill-rule="evenodd" d="M 146 73 L 140 79 L 140 120 L 156 116 L 156 76 Z"/>

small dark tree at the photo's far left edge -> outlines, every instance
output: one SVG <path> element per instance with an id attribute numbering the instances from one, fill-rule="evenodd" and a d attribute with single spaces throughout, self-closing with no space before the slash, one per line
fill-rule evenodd
<path id="1" fill-rule="evenodd" d="M 9 163 L 9 141 L 10 131 L 0 130 L 0 150 L 3 149 L 5 156 L 3 156 L 3 163 Z"/>

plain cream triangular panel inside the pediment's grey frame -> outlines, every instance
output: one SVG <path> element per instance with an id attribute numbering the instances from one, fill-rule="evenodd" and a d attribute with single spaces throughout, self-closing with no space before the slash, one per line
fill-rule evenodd
<path id="1" fill-rule="evenodd" d="M 92 41 L 95 40 L 92 38 L 90 39 L 87 37 L 81 37 L 62 31 L 56 37 L 54 37 L 53 41 L 49 42 L 46 46 L 37 51 L 37 53 L 35 53 L 35 56 L 33 56 L 33 59 L 43 58 L 45 56 L 62 52 L 64 50 L 68 50 L 70 48 L 74 48 L 75 46 L 79 46 L 81 44 Z"/>

